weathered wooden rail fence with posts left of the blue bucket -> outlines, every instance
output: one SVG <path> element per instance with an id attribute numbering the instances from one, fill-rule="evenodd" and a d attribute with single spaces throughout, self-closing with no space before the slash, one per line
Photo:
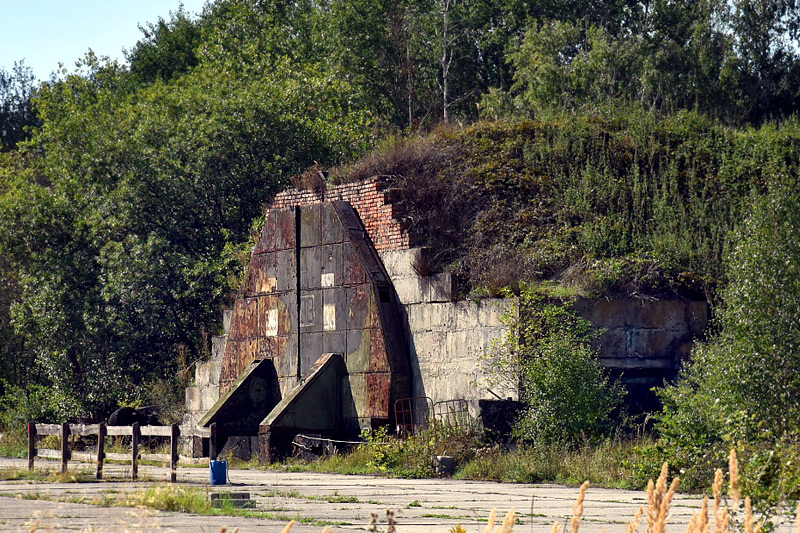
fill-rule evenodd
<path id="1" fill-rule="evenodd" d="M 38 438 L 54 435 L 61 438 L 61 449 L 53 450 L 38 447 Z M 70 436 L 86 437 L 97 435 L 97 452 L 77 452 L 70 447 Z M 36 457 L 61 459 L 61 472 L 67 471 L 70 460 L 93 462 L 97 461 L 97 479 L 103 479 L 103 462 L 106 459 L 115 461 L 131 461 L 131 479 L 139 477 L 139 461 L 154 461 L 169 463 L 170 482 L 175 483 L 178 472 L 178 462 L 195 463 L 196 460 L 178 454 L 178 439 L 184 437 L 201 437 L 209 439 L 209 457 L 217 458 L 217 425 L 211 424 L 209 428 L 191 426 L 107 426 L 104 422 L 99 424 L 37 424 L 28 423 L 28 470 L 33 470 Z M 131 437 L 131 453 L 106 453 L 106 436 Z M 141 437 L 169 437 L 170 453 L 140 453 L 139 441 Z"/>

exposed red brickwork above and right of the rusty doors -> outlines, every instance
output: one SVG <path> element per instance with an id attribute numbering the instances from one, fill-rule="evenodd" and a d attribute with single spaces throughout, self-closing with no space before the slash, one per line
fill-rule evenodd
<path id="1" fill-rule="evenodd" d="M 379 252 L 407 250 L 413 239 L 396 219 L 397 206 L 391 203 L 387 182 L 374 177 L 356 183 L 345 183 L 319 191 L 289 189 L 278 193 L 270 208 L 294 207 L 319 202 L 345 201 L 361 217 L 364 228 Z"/>

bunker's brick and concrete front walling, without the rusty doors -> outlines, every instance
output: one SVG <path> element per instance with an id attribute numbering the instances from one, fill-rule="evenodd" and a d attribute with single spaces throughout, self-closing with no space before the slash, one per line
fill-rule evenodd
<path id="1" fill-rule="evenodd" d="M 420 276 L 413 265 L 421 250 L 410 248 L 414 236 L 405 230 L 394 199 L 387 181 L 372 178 L 315 191 L 287 190 L 275 197 L 271 208 L 342 200 L 356 210 L 400 304 L 412 396 L 428 396 L 434 402 L 463 398 L 470 402 L 473 414 L 481 399 L 516 399 L 515 391 L 493 390 L 495 396 L 487 390 L 483 360 L 504 334 L 499 319 L 511 302 L 452 301 L 448 274 Z M 576 309 L 605 329 L 598 346 L 603 365 L 632 385 L 631 396 L 643 398 L 651 398 L 652 386 L 675 375 L 708 321 L 708 307 L 702 301 L 579 300 Z M 219 397 L 226 341 L 227 336 L 215 338 L 214 357 L 198 364 L 195 385 L 186 392 L 187 418 L 199 420 Z M 649 408 L 649 401 L 640 405 Z"/>

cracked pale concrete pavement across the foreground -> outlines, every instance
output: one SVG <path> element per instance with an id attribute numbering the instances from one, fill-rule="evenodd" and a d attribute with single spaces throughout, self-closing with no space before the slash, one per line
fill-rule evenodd
<path id="1" fill-rule="evenodd" d="M 39 461 L 55 469 L 56 465 Z M 26 462 L 0 459 L 0 469 L 23 468 Z M 86 468 L 91 465 L 70 465 Z M 107 477 L 120 479 L 126 473 L 121 465 L 108 465 Z M 160 467 L 141 467 L 141 474 L 153 479 L 168 478 L 168 470 Z M 333 523 L 332 529 L 345 531 L 364 529 L 371 513 L 380 517 L 378 528 L 386 529 L 386 509 L 395 511 L 398 530 L 409 533 L 447 532 L 460 524 L 467 531 L 483 531 L 492 508 L 497 509 L 498 522 L 510 509 L 518 515 L 517 532 L 549 532 L 555 520 L 562 525 L 572 516 L 578 490 L 558 485 L 527 485 L 456 481 L 451 479 L 386 479 L 372 476 L 344 476 L 318 473 L 289 473 L 271 470 L 231 470 L 235 484 L 215 487 L 215 491 L 248 492 L 256 510 L 273 515 L 273 519 L 240 517 L 197 517 L 180 513 L 160 513 L 141 509 L 102 508 L 83 504 L 54 503 L 26 500 L 32 494 L 50 498 L 75 499 L 107 496 L 110 491 L 137 492 L 152 483 L 107 481 L 98 483 L 48 484 L 0 483 L 0 496 L 18 499 L 0 500 L 0 530 L 17 530 L 38 513 L 50 513 L 43 526 L 58 526 L 64 530 L 91 529 L 116 531 L 123 525 L 138 529 L 167 528 L 175 531 L 219 531 L 219 527 L 239 527 L 245 531 L 281 531 L 289 519 L 316 520 L 298 523 L 296 531 L 320 531 L 322 524 Z M 187 486 L 205 488 L 208 469 L 181 468 L 178 480 Z M 16 504 L 16 505 L 12 505 Z M 590 488 L 584 502 L 582 532 L 624 531 L 627 522 L 640 505 L 646 504 L 644 492 Z M 672 503 L 667 531 L 686 530 L 692 513 L 700 508 L 695 495 L 678 495 Z M 138 521 L 138 522 L 137 522 Z M 149 524 L 149 525 L 148 525 Z M 643 531 L 644 527 L 640 527 Z M 795 531 L 794 521 L 781 525 L 778 531 Z"/>

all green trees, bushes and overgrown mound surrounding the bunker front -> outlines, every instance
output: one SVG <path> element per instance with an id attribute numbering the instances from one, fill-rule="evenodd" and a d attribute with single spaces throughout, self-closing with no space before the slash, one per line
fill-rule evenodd
<path id="1" fill-rule="evenodd" d="M 521 296 L 504 364 L 536 448 L 494 471 L 448 443 L 462 475 L 617 457 L 620 392 L 569 299 L 688 296 L 714 329 L 630 460 L 699 487 L 736 447 L 746 490 L 800 496 L 800 10 L 756 4 L 216 0 L 145 25 L 125 63 L 0 70 L 3 451 L 32 418 L 175 419 L 263 205 L 322 167 L 393 180 L 420 272 Z M 314 468 L 427 476 L 442 451 L 379 434 Z M 598 471 L 640 483 L 624 465 Z"/>

